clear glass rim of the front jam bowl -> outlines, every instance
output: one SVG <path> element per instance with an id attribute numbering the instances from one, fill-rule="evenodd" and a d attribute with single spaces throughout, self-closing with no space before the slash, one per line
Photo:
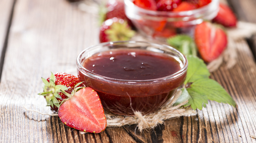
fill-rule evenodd
<path id="1" fill-rule="evenodd" d="M 91 48 L 94 48 L 96 46 L 106 46 L 106 45 L 115 45 L 115 44 L 119 44 L 119 43 L 132 43 L 132 44 L 135 44 L 135 43 L 144 43 L 144 44 L 148 44 L 148 45 L 155 45 L 155 46 L 163 46 L 165 48 L 168 48 L 169 50 L 172 50 L 175 55 L 177 54 L 178 56 L 181 57 L 181 62 L 183 63 L 183 67 L 181 67 L 181 69 L 171 75 L 168 75 L 168 76 L 165 76 L 165 77 L 160 77 L 160 78 L 155 78 L 155 79 L 147 79 L 147 80 L 125 80 L 125 79 L 116 79 L 116 78 L 111 78 L 111 77 L 106 77 L 106 76 L 102 76 L 102 75 L 99 75 L 99 74 L 96 74 L 94 72 L 91 72 L 89 70 L 87 70 L 86 68 L 84 68 L 82 66 L 82 55 L 89 49 Z M 100 51 L 99 51 L 100 52 Z M 94 53 L 96 54 L 96 53 Z M 93 54 L 93 55 L 94 55 Z M 129 83 L 129 84 L 138 84 L 138 83 L 142 83 L 142 82 L 156 82 L 156 83 L 161 83 L 163 81 L 170 81 L 170 80 L 173 80 L 173 79 L 176 79 L 178 77 L 180 77 L 181 75 L 183 75 L 186 71 L 187 71 L 187 67 L 188 67 L 188 61 L 187 61 L 187 58 L 181 53 L 179 52 L 178 50 L 176 50 L 175 48 L 171 47 L 171 46 L 168 46 L 168 45 L 165 45 L 165 44 L 160 44 L 160 43 L 154 43 L 154 42 L 148 42 L 148 41 L 135 41 L 135 40 L 127 40 L 127 41 L 111 41 L 111 42 L 103 42 L 103 43 L 99 43 L 99 44 L 95 44 L 95 45 L 92 45 L 92 46 L 89 46 L 87 48 L 85 48 L 82 52 L 80 52 L 76 58 L 76 65 L 77 65 L 77 68 L 80 72 L 82 72 L 83 74 L 85 72 L 86 73 L 86 76 L 89 76 L 90 78 L 96 78 L 97 80 L 104 80 L 104 82 L 114 82 L 116 83 L 117 81 L 121 82 L 121 83 Z"/>

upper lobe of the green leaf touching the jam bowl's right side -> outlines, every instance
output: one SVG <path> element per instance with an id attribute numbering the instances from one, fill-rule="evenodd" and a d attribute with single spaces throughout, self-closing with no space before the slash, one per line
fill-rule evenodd
<path id="1" fill-rule="evenodd" d="M 208 71 L 205 63 L 202 59 L 196 56 L 187 56 L 188 60 L 188 68 L 187 68 L 187 78 L 184 82 L 192 83 L 201 78 L 208 78 L 210 76 L 210 72 Z"/>

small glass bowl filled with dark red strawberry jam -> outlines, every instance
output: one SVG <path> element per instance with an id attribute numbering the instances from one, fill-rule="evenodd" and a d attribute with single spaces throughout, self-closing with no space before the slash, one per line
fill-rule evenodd
<path id="1" fill-rule="evenodd" d="M 99 44 L 85 49 L 77 59 L 78 78 L 96 90 L 105 110 L 115 114 L 152 113 L 185 81 L 187 61 L 181 53 L 168 46 L 170 54 L 158 49 L 163 45 L 135 43 L 136 47 L 129 42 Z"/>

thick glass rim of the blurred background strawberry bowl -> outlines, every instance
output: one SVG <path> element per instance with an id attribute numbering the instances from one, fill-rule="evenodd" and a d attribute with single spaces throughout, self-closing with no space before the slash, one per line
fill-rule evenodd
<path id="1" fill-rule="evenodd" d="M 148 9 L 144 9 L 144 8 L 140 8 L 138 6 L 136 6 L 133 2 L 133 0 L 124 0 L 125 3 L 125 7 L 130 6 L 130 7 L 134 7 L 135 11 L 139 11 L 141 13 L 144 14 L 148 14 L 151 16 L 161 16 L 161 17 L 176 17 L 176 16 L 192 16 L 195 14 L 199 14 L 199 13 L 204 13 L 205 11 L 208 11 L 211 8 L 214 8 L 214 5 L 218 5 L 219 4 L 219 0 L 212 0 L 209 4 L 200 7 L 200 8 L 196 8 L 193 10 L 187 10 L 187 11 L 155 11 L 155 10 L 148 10 Z M 215 10 L 215 9 L 214 9 Z"/>

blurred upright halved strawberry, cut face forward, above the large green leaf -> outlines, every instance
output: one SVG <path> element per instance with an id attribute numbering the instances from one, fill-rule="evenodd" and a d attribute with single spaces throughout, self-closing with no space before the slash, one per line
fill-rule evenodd
<path id="1" fill-rule="evenodd" d="M 225 50 L 227 36 L 222 28 L 203 22 L 195 27 L 195 43 L 202 59 L 211 62 Z"/>

